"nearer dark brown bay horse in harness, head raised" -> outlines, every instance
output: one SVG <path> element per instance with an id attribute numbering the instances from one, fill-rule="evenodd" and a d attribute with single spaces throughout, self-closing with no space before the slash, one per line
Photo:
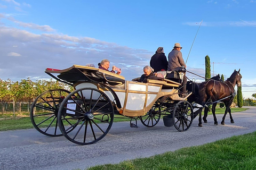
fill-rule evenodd
<path id="1" fill-rule="evenodd" d="M 222 117 L 221 124 L 225 125 L 225 118 L 227 113 L 229 112 L 230 116 L 230 122 L 234 123 L 233 117 L 231 116 L 231 110 L 230 110 L 230 105 L 233 102 L 233 99 L 236 95 L 235 93 L 235 86 L 237 85 L 238 87 L 241 86 L 241 79 L 242 75 L 240 74 L 240 69 L 238 71 L 234 71 L 231 76 L 224 82 L 220 81 L 215 81 L 215 80 L 209 80 L 205 81 L 200 84 L 199 88 L 199 104 L 206 106 L 205 110 L 208 112 L 208 107 L 209 105 L 212 106 L 212 114 L 214 118 L 214 124 L 218 125 L 217 117 L 215 115 L 215 107 L 217 105 L 218 101 L 222 101 L 225 106 L 226 110 L 225 113 Z M 205 111 L 203 120 L 204 122 L 207 122 L 206 117 L 207 117 L 207 112 Z M 201 113 L 202 114 L 202 113 Z M 201 120 L 202 115 L 199 115 L 199 124 L 202 124 Z M 198 125 L 199 125 L 198 124 Z"/>

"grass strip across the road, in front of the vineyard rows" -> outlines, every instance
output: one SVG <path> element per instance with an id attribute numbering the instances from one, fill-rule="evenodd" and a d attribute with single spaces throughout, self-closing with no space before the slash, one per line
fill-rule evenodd
<path id="1" fill-rule="evenodd" d="M 245 111 L 246 108 L 231 108 L 231 112 L 241 112 Z M 225 108 L 216 108 L 216 113 L 223 114 L 225 112 Z M 13 114 L 0 114 L 0 131 L 7 130 L 18 130 L 18 129 L 30 129 L 34 128 L 30 121 L 30 117 L 28 113 L 22 113 L 22 116 L 16 114 L 16 117 L 13 117 Z M 120 118 L 117 118 L 120 117 Z M 121 121 L 130 121 L 130 118 L 124 116 L 116 116 L 114 118 L 114 122 Z M 139 120 L 138 120 L 139 121 Z M 45 124 L 47 127 L 48 124 Z"/>

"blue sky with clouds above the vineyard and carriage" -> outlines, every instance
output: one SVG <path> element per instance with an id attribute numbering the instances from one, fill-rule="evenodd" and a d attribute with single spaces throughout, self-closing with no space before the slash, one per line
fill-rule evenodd
<path id="1" fill-rule="evenodd" d="M 0 0 L 0 78 L 47 79 L 46 67 L 97 65 L 103 58 L 126 80 L 140 77 L 158 47 L 180 43 L 187 70 L 225 80 L 241 69 L 245 98 L 256 92 L 256 0 L 19 1 Z M 213 65 L 214 63 L 214 65 Z M 189 78 L 202 81 L 195 75 Z"/>

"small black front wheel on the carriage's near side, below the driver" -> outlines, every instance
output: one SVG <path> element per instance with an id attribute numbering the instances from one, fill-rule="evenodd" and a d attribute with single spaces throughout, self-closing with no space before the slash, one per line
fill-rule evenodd
<path id="1" fill-rule="evenodd" d="M 174 107 L 172 117 L 174 126 L 178 131 L 188 130 L 193 122 L 193 108 L 191 104 L 186 100 L 179 101 Z"/>

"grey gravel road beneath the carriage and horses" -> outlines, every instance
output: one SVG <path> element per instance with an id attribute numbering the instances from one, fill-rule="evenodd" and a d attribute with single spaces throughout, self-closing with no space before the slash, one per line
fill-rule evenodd
<path id="1" fill-rule="evenodd" d="M 223 115 L 218 114 L 219 125 L 215 126 L 209 115 L 208 123 L 200 128 L 196 117 L 186 132 L 165 127 L 163 120 L 153 128 L 138 122 L 138 129 L 130 128 L 130 122 L 116 122 L 105 138 L 87 146 L 76 145 L 65 137 L 47 137 L 35 129 L 4 131 L 0 132 L 0 169 L 84 169 L 203 145 L 256 131 L 256 107 L 247 108 L 233 113 L 233 124 L 227 116 L 226 125 L 220 125 Z"/>

